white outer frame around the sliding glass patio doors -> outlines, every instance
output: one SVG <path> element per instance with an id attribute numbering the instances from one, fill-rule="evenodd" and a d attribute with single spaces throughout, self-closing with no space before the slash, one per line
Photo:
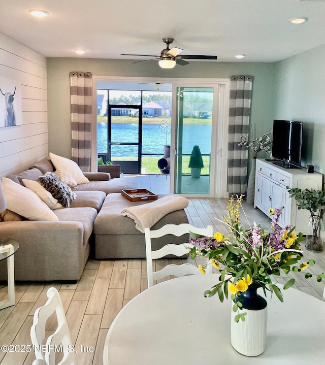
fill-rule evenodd
<path id="1" fill-rule="evenodd" d="M 222 95 L 222 103 L 219 103 L 219 115 L 216 116 L 216 127 L 218 130 L 216 146 L 214 154 L 218 154 L 220 159 L 216 160 L 215 189 L 214 197 L 228 197 L 227 194 L 227 169 L 228 169 L 228 119 L 229 119 L 229 94 L 230 94 L 230 79 L 229 78 L 164 78 L 164 77 L 126 77 L 126 76 L 93 76 L 92 82 L 92 137 L 91 137 L 91 171 L 97 171 L 97 113 L 96 113 L 96 93 L 97 82 L 131 82 L 131 83 L 181 83 L 183 86 L 195 86 L 196 83 L 204 83 L 207 85 L 224 85 Z M 174 99 L 174 98 L 173 98 Z M 172 105 L 172 130 L 176 123 L 176 110 Z M 175 132 L 171 139 L 175 138 Z M 173 158 L 171 158 L 171 171 L 175 169 Z M 174 171 L 174 170 L 173 170 Z M 172 191 L 172 190 L 171 190 Z M 200 195 L 203 197 L 203 195 Z"/>

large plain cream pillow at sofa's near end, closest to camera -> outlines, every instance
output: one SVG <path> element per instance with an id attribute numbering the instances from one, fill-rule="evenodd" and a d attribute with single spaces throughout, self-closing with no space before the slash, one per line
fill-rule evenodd
<path id="1" fill-rule="evenodd" d="M 30 220 L 58 221 L 57 216 L 34 191 L 7 178 L 2 178 L 1 182 L 9 210 Z"/>

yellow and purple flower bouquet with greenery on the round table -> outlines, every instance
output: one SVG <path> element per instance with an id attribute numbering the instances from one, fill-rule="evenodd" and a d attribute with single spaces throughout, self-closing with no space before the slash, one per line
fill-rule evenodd
<path id="1" fill-rule="evenodd" d="M 210 260 L 211 264 L 220 270 L 219 283 L 211 290 L 206 290 L 205 296 L 213 296 L 216 293 L 220 302 L 224 296 L 234 301 L 233 311 L 237 312 L 235 321 L 245 321 L 246 313 L 243 309 L 240 293 L 245 292 L 252 284 L 262 287 L 264 294 L 270 291 L 275 293 L 281 302 L 283 296 L 278 285 L 272 282 L 271 275 L 280 275 L 282 271 L 288 274 L 290 271 L 301 272 L 314 261 L 303 262 L 303 253 L 300 242 L 304 240 L 301 233 L 296 234 L 294 228 L 280 228 L 277 225 L 282 209 L 270 209 L 272 217 L 269 230 L 259 224 L 253 224 L 250 229 L 243 229 L 240 225 L 239 213 L 242 207 L 242 196 L 231 197 L 228 203 L 228 214 L 223 216 L 223 221 L 229 227 L 229 237 L 217 232 L 214 237 L 202 237 L 191 234 L 189 242 L 194 245 L 190 250 L 192 259 L 203 256 Z M 245 212 L 244 212 L 245 213 Z M 200 267 L 202 273 L 205 268 Z M 310 273 L 305 274 L 309 278 Z M 324 278 L 324 274 L 317 276 L 317 281 Z M 294 285 L 295 279 L 288 279 L 283 289 Z"/>

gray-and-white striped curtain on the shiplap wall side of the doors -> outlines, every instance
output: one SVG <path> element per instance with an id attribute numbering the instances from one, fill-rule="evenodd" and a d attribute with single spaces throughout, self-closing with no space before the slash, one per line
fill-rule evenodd
<path id="1" fill-rule="evenodd" d="M 71 159 L 83 172 L 90 171 L 92 75 L 70 72 Z"/>

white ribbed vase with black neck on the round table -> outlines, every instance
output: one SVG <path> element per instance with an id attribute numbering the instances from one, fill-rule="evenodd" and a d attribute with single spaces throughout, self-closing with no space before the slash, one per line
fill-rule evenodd
<path id="1" fill-rule="evenodd" d="M 245 321 L 235 322 L 237 312 L 232 310 L 231 341 L 239 353 L 258 356 L 265 350 L 268 307 L 265 298 L 257 294 L 257 285 L 251 284 L 237 300 L 243 303 L 241 312 L 246 312 Z"/>

